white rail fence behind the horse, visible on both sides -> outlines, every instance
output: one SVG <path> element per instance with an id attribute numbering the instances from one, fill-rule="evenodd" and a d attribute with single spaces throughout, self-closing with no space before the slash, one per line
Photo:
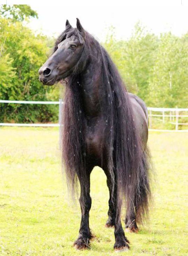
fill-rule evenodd
<path id="1" fill-rule="evenodd" d="M 32 126 L 32 127 L 58 127 L 62 124 L 61 114 L 63 101 L 18 101 L 18 100 L 0 100 L 1 103 L 14 103 L 14 104 L 55 104 L 59 105 L 59 123 L 0 123 L 0 126 Z M 187 125 L 187 122 L 179 122 L 182 118 L 188 118 L 188 108 L 157 108 L 148 107 L 149 112 L 149 130 L 150 131 L 179 131 L 184 132 L 188 129 L 179 130 L 178 127 L 181 125 Z M 186 114 L 182 114 L 186 113 Z M 169 122 L 175 126 L 175 130 L 162 130 L 152 129 L 153 118 L 165 123 Z"/>

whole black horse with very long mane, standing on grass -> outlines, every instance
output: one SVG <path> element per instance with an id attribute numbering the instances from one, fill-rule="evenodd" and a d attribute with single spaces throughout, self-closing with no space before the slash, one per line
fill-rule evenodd
<path id="1" fill-rule="evenodd" d="M 151 197 L 149 179 L 148 113 L 144 102 L 127 93 L 120 75 L 104 48 L 86 32 L 66 28 L 54 52 L 39 70 L 46 85 L 65 79 L 62 156 L 68 185 L 80 182 L 81 224 L 77 249 L 88 248 L 91 208 L 90 174 L 100 166 L 107 176 L 109 211 L 107 227 L 115 227 L 115 250 L 127 250 L 120 220 L 126 204 L 125 226 L 138 232 Z"/>

